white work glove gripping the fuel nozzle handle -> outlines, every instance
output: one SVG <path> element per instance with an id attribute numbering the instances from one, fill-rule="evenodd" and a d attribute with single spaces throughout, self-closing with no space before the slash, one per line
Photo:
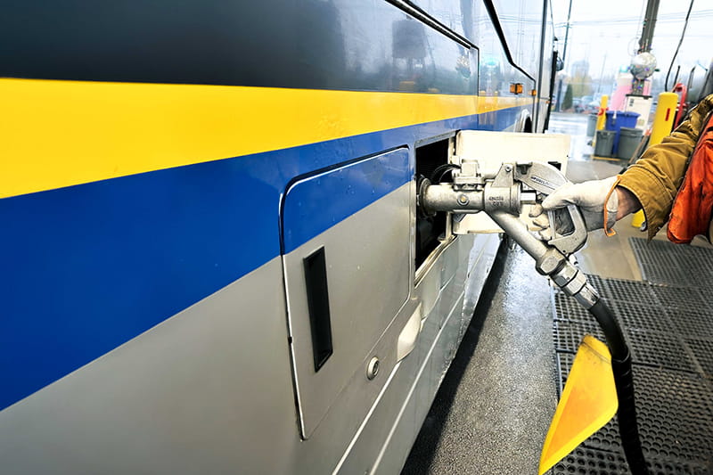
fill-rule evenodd
<path id="1" fill-rule="evenodd" d="M 604 200 L 610 194 L 611 188 L 617 183 L 617 176 L 604 178 L 603 180 L 593 180 L 589 182 L 573 184 L 562 184 L 547 196 L 542 205 L 535 205 L 529 212 L 529 217 L 533 217 L 532 224 L 539 229 L 540 237 L 549 241 L 552 239 L 550 230 L 550 220 L 547 211 L 565 208 L 567 205 L 577 205 L 585 219 L 587 231 L 602 229 L 604 227 Z M 619 209 L 619 197 L 617 192 L 610 194 L 607 206 L 607 229 L 617 222 L 617 210 Z M 571 229 L 567 225 L 557 220 L 555 228 L 557 233 L 570 233 Z"/>

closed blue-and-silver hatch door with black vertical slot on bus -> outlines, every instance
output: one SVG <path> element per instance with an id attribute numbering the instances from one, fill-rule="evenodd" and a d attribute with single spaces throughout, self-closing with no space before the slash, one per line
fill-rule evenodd
<path id="1" fill-rule="evenodd" d="M 412 169 L 402 148 L 307 176 L 285 192 L 283 266 L 304 439 L 353 437 L 420 332 Z"/>

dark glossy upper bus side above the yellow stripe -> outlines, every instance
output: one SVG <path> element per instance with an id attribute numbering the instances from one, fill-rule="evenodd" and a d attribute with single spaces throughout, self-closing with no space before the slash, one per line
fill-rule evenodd
<path id="1" fill-rule="evenodd" d="M 385 0 L 13 2 L 0 78 L 476 94 L 446 38 Z"/>

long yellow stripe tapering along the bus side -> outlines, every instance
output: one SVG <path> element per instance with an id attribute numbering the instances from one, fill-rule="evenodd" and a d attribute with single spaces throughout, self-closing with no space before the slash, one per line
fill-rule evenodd
<path id="1" fill-rule="evenodd" d="M 1 78 L 0 198 L 532 102 Z"/>

